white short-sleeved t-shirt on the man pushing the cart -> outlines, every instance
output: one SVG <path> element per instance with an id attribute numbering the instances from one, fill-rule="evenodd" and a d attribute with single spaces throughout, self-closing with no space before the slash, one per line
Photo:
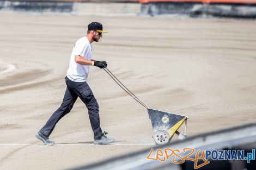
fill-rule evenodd
<path id="1" fill-rule="evenodd" d="M 86 60 L 92 59 L 92 45 L 86 36 L 77 40 L 73 47 L 66 77 L 75 82 L 87 81 L 90 66 L 76 63 L 76 55 L 81 55 Z"/>

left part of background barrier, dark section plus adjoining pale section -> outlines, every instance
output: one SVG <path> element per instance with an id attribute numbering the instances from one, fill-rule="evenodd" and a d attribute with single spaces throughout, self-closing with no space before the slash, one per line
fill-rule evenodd
<path id="1" fill-rule="evenodd" d="M 1 11 L 40 12 L 45 13 L 72 13 L 75 15 L 129 15 L 137 16 L 141 12 L 141 4 L 131 2 L 119 2 L 109 0 L 107 2 L 77 2 L 73 0 L 63 1 L 0 1 Z"/>

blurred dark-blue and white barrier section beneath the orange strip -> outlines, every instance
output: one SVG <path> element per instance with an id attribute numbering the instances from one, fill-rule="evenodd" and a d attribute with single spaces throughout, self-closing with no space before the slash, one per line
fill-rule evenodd
<path id="1" fill-rule="evenodd" d="M 141 15 L 187 15 L 256 18 L 256 5 L 158 2 L 142 4 Z"/>

